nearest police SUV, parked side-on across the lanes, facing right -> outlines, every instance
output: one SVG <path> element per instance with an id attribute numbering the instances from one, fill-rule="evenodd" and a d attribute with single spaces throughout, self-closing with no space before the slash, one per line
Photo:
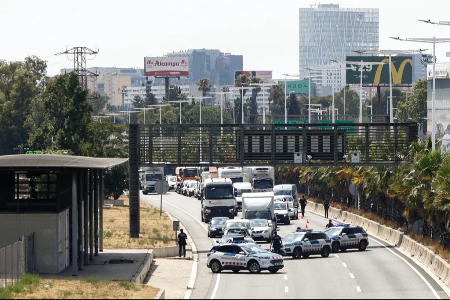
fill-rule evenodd
<path id="1" fill-rule="evenodd" d="M 207 267 L 213 273 L 222 270 L 248 270 L 257 274 L 263 270 L 276 273 L 284 267 L 283 257 L 270 253 L 259 246 L 252 244 L 223 244 L 214 246 L 208 253 Z"/>

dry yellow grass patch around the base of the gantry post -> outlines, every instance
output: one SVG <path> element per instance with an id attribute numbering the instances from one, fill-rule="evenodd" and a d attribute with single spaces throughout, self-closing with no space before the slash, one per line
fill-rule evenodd
<path id="1" fill-rule="evenodd" d="M 140 202 L 140 238 L 129 237 L 129 198 L 125 206 L 103 209 L 103 245 L 105 248 L 154 248 L 175 245 L 172 221 L 159 209 Z"/>

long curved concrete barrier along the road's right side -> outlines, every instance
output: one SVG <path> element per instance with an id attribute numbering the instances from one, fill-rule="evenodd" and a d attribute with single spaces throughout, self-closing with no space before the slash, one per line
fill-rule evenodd
<path id="1" fill-rule="evenodd" d="M 325 215 L 325 209 L 322 204 L 308 201 L 307 209 L 320 215 Z M 371 221 L 362 216 L 333 207 L 329 208 L 328 216 L 344 223 L 351 223 L 352 225 L 361 226 L 367 231 L 367 233 L 380 239 L 387 240 L 388 242 L 398 246 L 410 257 L 414 257 L 420 261 L 446 286 L 450 287 L 450 264 L 443 260 L 442 257 L 436 255 L 433 251 L 416 242 L 404 233 Z"/>

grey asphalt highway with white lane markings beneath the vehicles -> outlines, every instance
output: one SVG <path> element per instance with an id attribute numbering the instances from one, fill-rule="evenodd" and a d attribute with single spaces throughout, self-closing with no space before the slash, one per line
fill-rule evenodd
<path id="1" fill-rule="evenodd" d="M 159 207 L 159 195 L 141 194 L 140 199 Z M 183 223 L 197 247 L 199 265 L 193 299 L 449 299 L 420 266 L 374 237 L 364 252 L 355 249 L 332 253 L 328 258 L 314 255 L 298 260 L 285 257 L 284 269 L 276 274 L 213 274 L 206 267 L 206 254 L 215 239 L 207 237 L 207 225 L 201 222 L 200 201 L 169 192 L 163 196 L 162 209 Z M 278 233 L 283 237 L 297 226 L 304 228 L 307 221 L 309 228 L 320 231 L 327 223 L 324 217 L 309 213 L 306 206 L 304 219 L 279 225 Z"/>

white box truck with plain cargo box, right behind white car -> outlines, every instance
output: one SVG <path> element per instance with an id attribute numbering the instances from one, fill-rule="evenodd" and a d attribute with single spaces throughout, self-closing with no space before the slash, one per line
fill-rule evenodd
<path id="1" fill-rule="evenodd" d="M 242 218 L 266 219 L 276 229 L 275 200 L 273 192 L 243 193 L 242 194 Z"/>

